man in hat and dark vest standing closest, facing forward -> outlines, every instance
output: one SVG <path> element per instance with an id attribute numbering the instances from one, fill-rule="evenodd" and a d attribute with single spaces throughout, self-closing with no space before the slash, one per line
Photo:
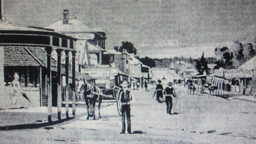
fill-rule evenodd
<path id="1" fill-rule="evenodd" d="M 131 131 L 131 107 L 130 107 L 130 101 L 132 101 L 132 94 L 130 93 L 128 89 L 128 81 L 123 81 L 121 86 L 122 86 L 122 91 L 120 92 L 119 95 L 119 102 L 121 104 L 121 113 L 122 113 L 122 131 L 120 134 L 125 133 L 125 116 L 126 116 L 126 121 L 127 121 L 127 132 L 132 134 Z"/>

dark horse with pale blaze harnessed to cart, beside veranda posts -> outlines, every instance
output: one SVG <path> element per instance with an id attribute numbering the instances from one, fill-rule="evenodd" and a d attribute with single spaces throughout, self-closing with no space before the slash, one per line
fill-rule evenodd
<path id="1" fill-rule="evenodd" d="M 82 78 L 78 82 L 77 87 L 78 94 L 83 92 L 83 98 L 85 100 L 85 105 L 87 107 L 87 120 L 89 120 L 89 117 L 93 117 L 93 120 L 95 120 L 95 104 L 98 102 L 98 114 L 99 118 L 100 116 L 100 104 L 102 102 L 103 98 L 103 92 L 102 90 L 95 86 L 87 83 L 87 81 Z"/>

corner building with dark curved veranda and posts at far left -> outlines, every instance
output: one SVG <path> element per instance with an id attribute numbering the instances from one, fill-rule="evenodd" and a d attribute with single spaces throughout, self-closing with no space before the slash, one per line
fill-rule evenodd
<path id="1" fill-rule="evenodd" d="M 75 89 L 75 42 L 75 38 L 50 29 L 0 22 L 0 48 L 4 50 L 4 81 L 10 83 L 13 74 L 17 72 L 24 88 L 37 87 L 38 105 L 48 106 L 49 121 L 51 107 L 61 107 L 62 76 L 67 76 L 66 86 L 69 87 L 71 83 L 69 88 L 72 89 L 71 93 L 65 94 L 72 95 Z M 56 61 L 52 59 L 53 52 L 57 54 Z M 65 57 L 65 65 L 61 64 L 61 55 Z M 72 77 L 71 81 L 69 76 Z M 73 110 L 75 111 L 75 108 Z M 60 113 L 58 111 L 58 118 Z"/>

